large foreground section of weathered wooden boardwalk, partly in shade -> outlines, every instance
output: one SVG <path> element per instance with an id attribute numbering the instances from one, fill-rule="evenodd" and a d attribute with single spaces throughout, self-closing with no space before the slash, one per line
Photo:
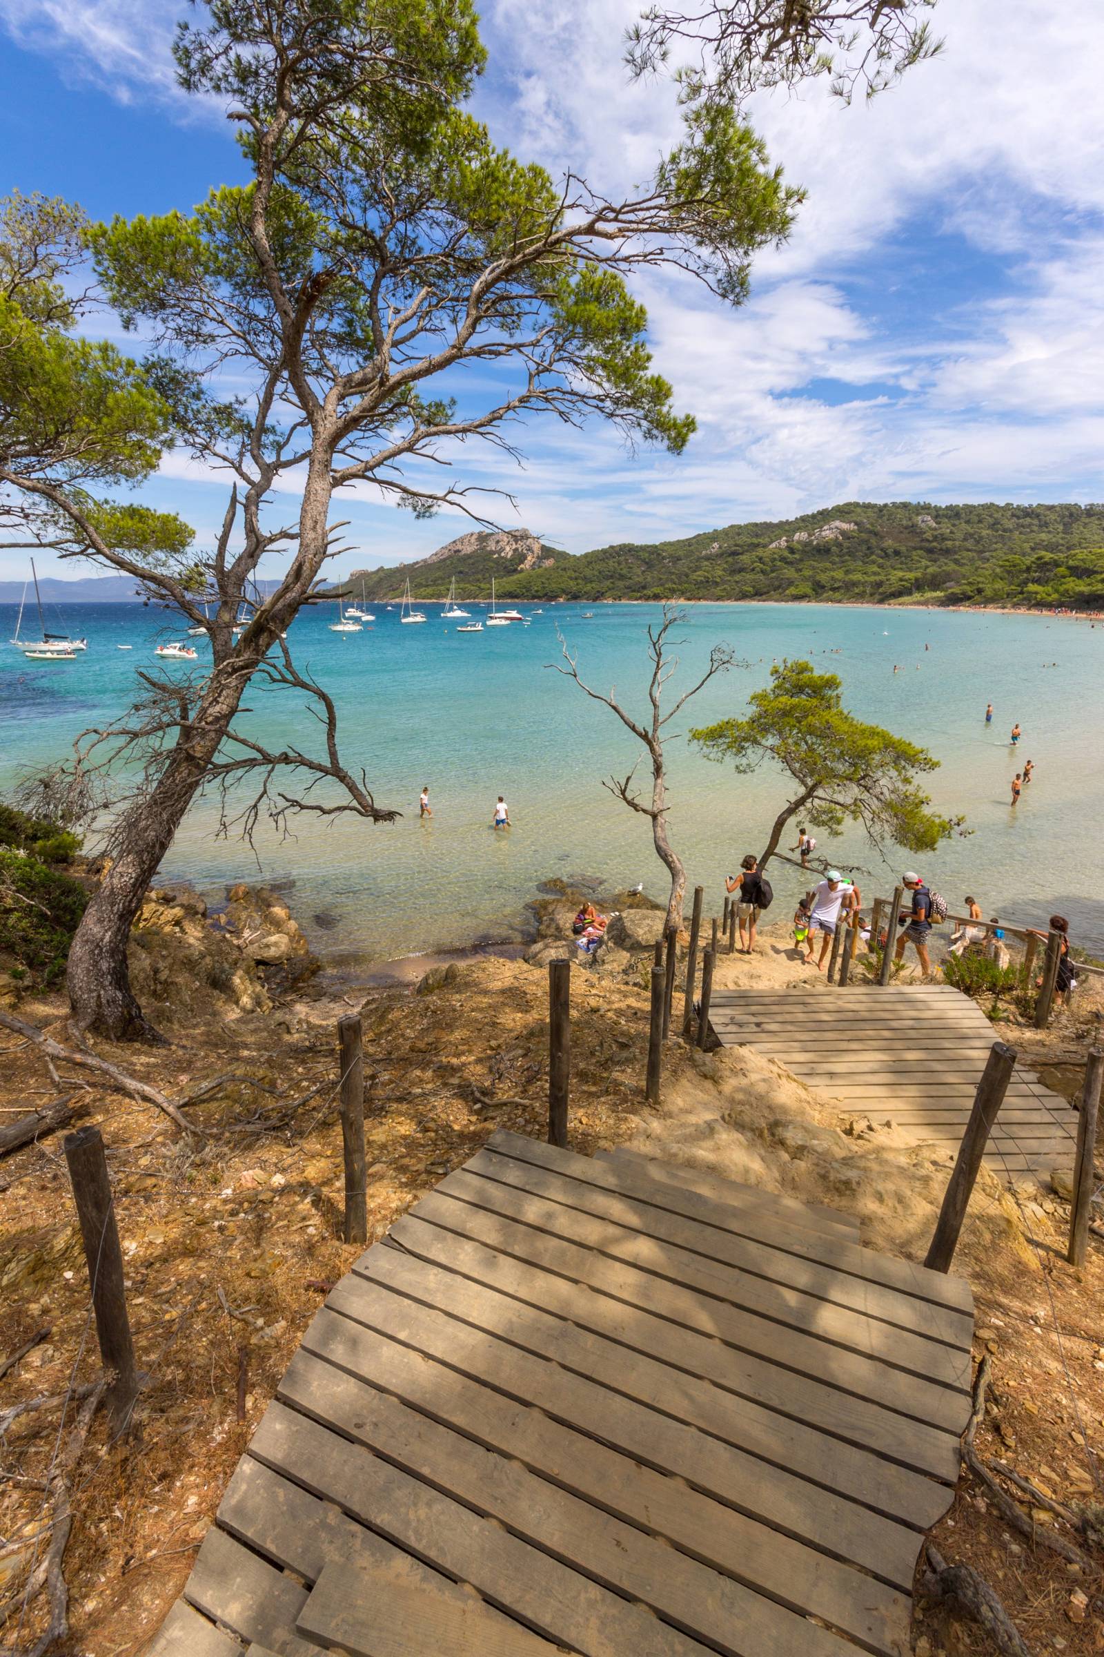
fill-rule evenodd
<path id="1" fill-rule="evenodd" d="M 831 1210 L 495 1133 L 331 1291 L 151 1657 L 904 1657 L 972 1334 Z"/>

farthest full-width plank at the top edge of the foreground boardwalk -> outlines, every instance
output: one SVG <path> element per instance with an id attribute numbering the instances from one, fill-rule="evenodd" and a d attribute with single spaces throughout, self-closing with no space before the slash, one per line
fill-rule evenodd
<path id="1" fill-rule="evenodd" d="M 664 1215 L 675 1215 L 695 1225 L 708 1226 L 710 1231 L 723 1231 L 733 1239 L 740 1238 L 751 1246 L 745 1249 L 743 1258 L 738 1261 L 748 1271 L 758 1271 L 763 1276 L 785 1279 L 786 1283 L 803 1283 L 804 1273 L 799 1268 L 794 1269 L 788 1259 L 801 1261 L 806 1268 L 824 1268 L 824 1273 L 819 1276 L 813 1273 L 809 1278 L 808 1286 L 811 1292 L 824 1292 L 823 1278 L 842 1273 L 846 1278 L 859 1278 L 864 1283 L 890 1289 L 894 1294 L 915 1296 L 924 1302 L 940 1307 L 950 1306 L 957 1312 L 965 1314 L 965 1327 L 953 1331 L 957 1344 L 962 1339 L 968 1341 L 972 1336 L 973 1294 L 963 1278 L 925 1271 L 924 1266 L 917 1266 L 912 1261 L 879 1254 L 876 1249 L 862 1248 L 861 1243 L 849 1239 L 808 1236 L 796 1231 L 783 1216 L 763 1216 L 755 1211 L 717 1203 L 702 1191 L 682 1186 L 675 1190 L 662 1185 L 657 1186 L 654 1180 L 632 1163 L 599 1162 L 594 1157 L 578 1157 L 571 1152 L 545 1157 L 543 1152 L 548 1147 L 540 1145 L 536 1140 L 526 1140 L 521 1133 L 506 1133 L 502 1130 L 493 1133 L 487 1142 L 487 1150 L 492 1150 L 492 1147 L 495 1152 L 551 1171 L 568 1181 L 578 1181 L 594 1186 L 599 1191 L 627 1198 L 632 1203 L 647 1205 L 644 1210 L 646 1229 L 650 1229 L 654 1225 L 652 1213 L 660 1210 Z M 475 1165 L 477 1158 L 472 1160 L 473 1168 Z M 573 1196 L 568 1193 L 564 1201 L 573 1201 Z M 708 1253 L 713 1258 L 732 1258 L 728 1254 L 715 1254 L 715 1243 L 708 1233 L 703 1233 L 698 1243 L 700 1253 Z M 737 1248 L 740 1246 L 737 1244 Z M 788 1259 L 780 1256 L 786 1256 Z M 842 1299 L 842 1294 L 839 1297 Z M 852 1302 L 846 1301 L 846 1304 Z M 894 1321 L 915 1321 L 914 1326 L 920 1329 L 925 1327 L 929 1316 L 924 1309 L 914 1312 L 907 1302 L 894 1306 L 894 1312 L 899 1314 Z M 879 1316 L 882 1314 L 879 1312 Z M 947 1339 L 943 1331 L 940 1331 L 940 1339 Z"/>

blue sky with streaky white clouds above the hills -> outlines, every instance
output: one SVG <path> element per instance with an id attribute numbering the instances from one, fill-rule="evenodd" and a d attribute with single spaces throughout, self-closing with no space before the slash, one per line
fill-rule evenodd
<path id="1" fill-rule="evenodd" d="M 624 76 L 637 8 L 488 0 L 477 109 L 495 138 L 611 191 L 646 177 L 677 118 L 669 88 Z M 174 88 L 172 17 L 170 0 L 0 0 L 0 189 L 109 215 L 189 207 L 240 177 L 220 111 Z M 457 481 L 516 497 L 500 522 L 584 552 L 849 499 L 1104 499 L 1104 13 L 1008 0 L 995 36 L 986 0 L 942 0 L 935 20 L 943 56 L 869 106 L 819 88 L 755 106 L 809 196 L 746 307 L 689 278 L 641 283 L 657 365 L 698 416 L 685 454 L 533 424 L 523 467 L 457 457 Z M 147 497 L 204 542 L 225 486 L 170 456 Z M 422 557 L 470 527 L 371 495 L 339 515 L 344 568 Z M 0 553 L 0 575 L 23 558 Z"/>

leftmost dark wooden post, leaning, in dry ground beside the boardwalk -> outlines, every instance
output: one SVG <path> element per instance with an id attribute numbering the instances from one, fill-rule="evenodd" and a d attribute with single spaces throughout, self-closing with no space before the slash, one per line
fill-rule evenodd
<path id="1" fill-rule="evenodd" d="M 104 1142 L 96 1127 L 78 1128 L 65 1135 L 65 1160 L 73 1183 L 76 1218 L 81 1225 L 84 1261 L 96 1312 L 96 1337 L 104 1369 L 114 1374 L 108 1394 L 113 1437 L 131 1430 L 137 1375 L 134 1370 L 134 1342 L 131 1319 L 126 1309 L 122 1281 L 122 1249 L 114 1218 L 111 1180 Z"/>

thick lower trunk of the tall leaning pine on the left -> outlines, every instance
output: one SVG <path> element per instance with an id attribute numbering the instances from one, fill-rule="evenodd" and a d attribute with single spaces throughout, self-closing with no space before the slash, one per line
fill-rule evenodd
<path id="1" fill-rule="evenodd" d="M 113 1041 L 164 1041 L 131 989 L 131 926 L 248 684 L 242 663 L 233 666 L 233 673 L 215 669 L 154 789 L 116 828 L 116 858 L 84 910 L 66 968 L 70 1007 L 83 1031 Z"/>

